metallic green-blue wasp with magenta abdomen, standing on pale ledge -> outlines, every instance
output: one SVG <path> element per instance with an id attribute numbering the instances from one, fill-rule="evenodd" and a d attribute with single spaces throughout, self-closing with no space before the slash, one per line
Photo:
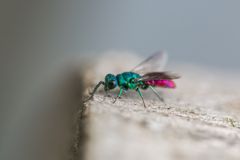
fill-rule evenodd
<path id="1" fill-rule="evenodd" d="M 109 73 L 105 76 L 104 81 L 100 81 L 95 86 L 93 92 L 90 93 L 90 97 L 85 101 L 92 99 L 97 89 L 103 85 L 106 93 L 117 87 L 120 88 L 119 94 L 113 103 L 122 96 L 123 91 L 135 90 L 141 97 L 144 107 L 146 107 L 141 90 L 148 88 L 154 92 L 159 100 L 164 102 L 164 99 L 158 94 L 155 88 L 175 88 L 176 85 L 173 79 L 180 78 L 177 74 L 161 71 L 166 62 L 167 54 L 165 52 L 157 52 L 130 71 L 117 75 Z"/>

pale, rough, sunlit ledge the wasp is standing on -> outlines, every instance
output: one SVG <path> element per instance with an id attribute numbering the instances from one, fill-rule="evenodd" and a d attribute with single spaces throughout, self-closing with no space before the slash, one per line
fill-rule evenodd
<path id="1" fill-rule="evenodd" d="M 101 68 L 111 72 L 112 63 L 104 57 L 89 75 Z M 86 103 L 84 159 L 239 160 L 240 79 L 189 66 L 175 69 L 182 75 L 177 89 L 159 89 L 165 104 L 151 92 L 143 93 L 147 108 L 135 92 L 112 104 L 117 91 L 105 97 L 102 90 Z M 93 83 L 104 74 L 96 76 Z"/>

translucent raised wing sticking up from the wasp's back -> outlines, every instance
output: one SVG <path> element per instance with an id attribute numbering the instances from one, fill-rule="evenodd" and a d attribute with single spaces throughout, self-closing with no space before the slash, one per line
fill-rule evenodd
<path id="1" fill-rule="evenodd" d="M 168 56 L 166 52 L 157 52 L 133 68 L 132 72 L 144 74 L 148 72 L 162 71 L 167 63 L 167 59 Z"/>

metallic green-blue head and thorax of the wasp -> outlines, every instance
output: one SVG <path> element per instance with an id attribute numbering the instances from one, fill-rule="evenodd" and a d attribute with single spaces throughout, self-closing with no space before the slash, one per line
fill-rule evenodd
<path id="1" fill-rule="evenodd" d="M 137 88 L 147 89 L 148 85 L 144 82 L 139 81 L 135 82 L 136 78 L 140 78 L 141 76 L 134 72 L 123 72 L 114 76 L 112 74 L 107 74 L 105 77 L 105 90 L 114 89 L 115 87 L 119 87 L 124 90 L 132 89 L 136 90 Z"/>

